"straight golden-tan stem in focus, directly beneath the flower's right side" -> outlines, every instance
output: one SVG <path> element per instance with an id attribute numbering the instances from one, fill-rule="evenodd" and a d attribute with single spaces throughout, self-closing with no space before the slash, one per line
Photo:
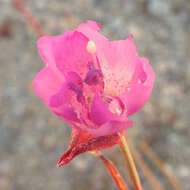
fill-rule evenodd
<path id="1" fill-rule="evenodd" d="M 127 144 L 127 140 L 124 135 L 121 135 L 121 143 L 120 143 L 120 150 L 123 153 L 123 156 L 125 158 L 127 170 L 129 173 L 129 176 L 131 178 L 131 181 L 133 183 L 135 190 L 142 190 L 142 185 L 140 182 L 139 175 L 137 173 L 137 169 L 131 154 L 131 151 L 129 149 L 129 146 Z"/>

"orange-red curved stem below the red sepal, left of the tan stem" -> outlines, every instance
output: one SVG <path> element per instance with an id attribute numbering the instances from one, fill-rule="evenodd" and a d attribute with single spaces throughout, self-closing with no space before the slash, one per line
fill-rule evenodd
<path id="1" fill-rule="evenodd" d="M 108 173 L 110 174 L 118 190 L 128 190 L 117 168 L 114 166 L 114 164 L 110 160 L 108 160 L 105 156 L 103 156 L 102 153 L 99 151 L 92 151 L 90 153 L 93 156 L 97 157 L 105 165 Z"/>

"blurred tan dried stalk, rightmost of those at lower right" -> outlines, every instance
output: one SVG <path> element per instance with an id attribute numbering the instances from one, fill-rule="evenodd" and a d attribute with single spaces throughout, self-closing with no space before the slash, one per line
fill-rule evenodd
<path id="1" fill-rule="evenodd" d="M 152 161 L 152 163 L 157 166 L 157 168 L 175 190 L 184 190 L 178 180 L 174 176 L 170 175 L 169 172 L 166 170 L 164 162 L 153 152 L 153 150 L 145 141 L 140 143 L 139 148 Z"/>

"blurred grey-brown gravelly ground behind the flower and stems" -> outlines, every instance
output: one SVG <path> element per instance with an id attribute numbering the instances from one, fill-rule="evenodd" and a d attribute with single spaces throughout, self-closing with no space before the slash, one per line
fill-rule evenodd
<path id="1" fill-rule="evenodd" d="M 190 189 L 190 1 L 189 0 L 24 0 L 51 35 L 86 20 L 102 24 L 111 40 L 134 35 L 141 57 L 150 60 L 156 82 L 150 101 L 132 119 L 130 140 L 164 189 L 172 189 L 143 152 L 149 147 L 184 189 Z M 0 0 L 0 189 L 116 189 L 104 166 L 82 154 L 56 168 L 70 128 L 34 94 L 32 81 L 43 68 L 39 35 L 11 0 Z M 119 148 L 104 151 L 129 184 Z M 139 167 L 140 166 L 140 167 Z M 144 189 L 153 189 L 138 166 Z M 129 185 L 130 186 L 130 185 Z"/>

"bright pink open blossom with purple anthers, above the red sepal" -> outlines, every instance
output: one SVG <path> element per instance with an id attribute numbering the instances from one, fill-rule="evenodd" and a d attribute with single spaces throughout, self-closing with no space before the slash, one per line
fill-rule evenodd
<path id="1" fill-rule="evenodd" d="M 146 103 L 154 83 L 153 69 L 138 56 L 131 35 L 111 42 L 99 29 L 88 21 L 74 31 L 38 41 L 46 65 L 34 80 L 34 90 L 75 134 L 88 134 L 86 142 L 118 137 L 132 126 L 127 117 Z"/>

